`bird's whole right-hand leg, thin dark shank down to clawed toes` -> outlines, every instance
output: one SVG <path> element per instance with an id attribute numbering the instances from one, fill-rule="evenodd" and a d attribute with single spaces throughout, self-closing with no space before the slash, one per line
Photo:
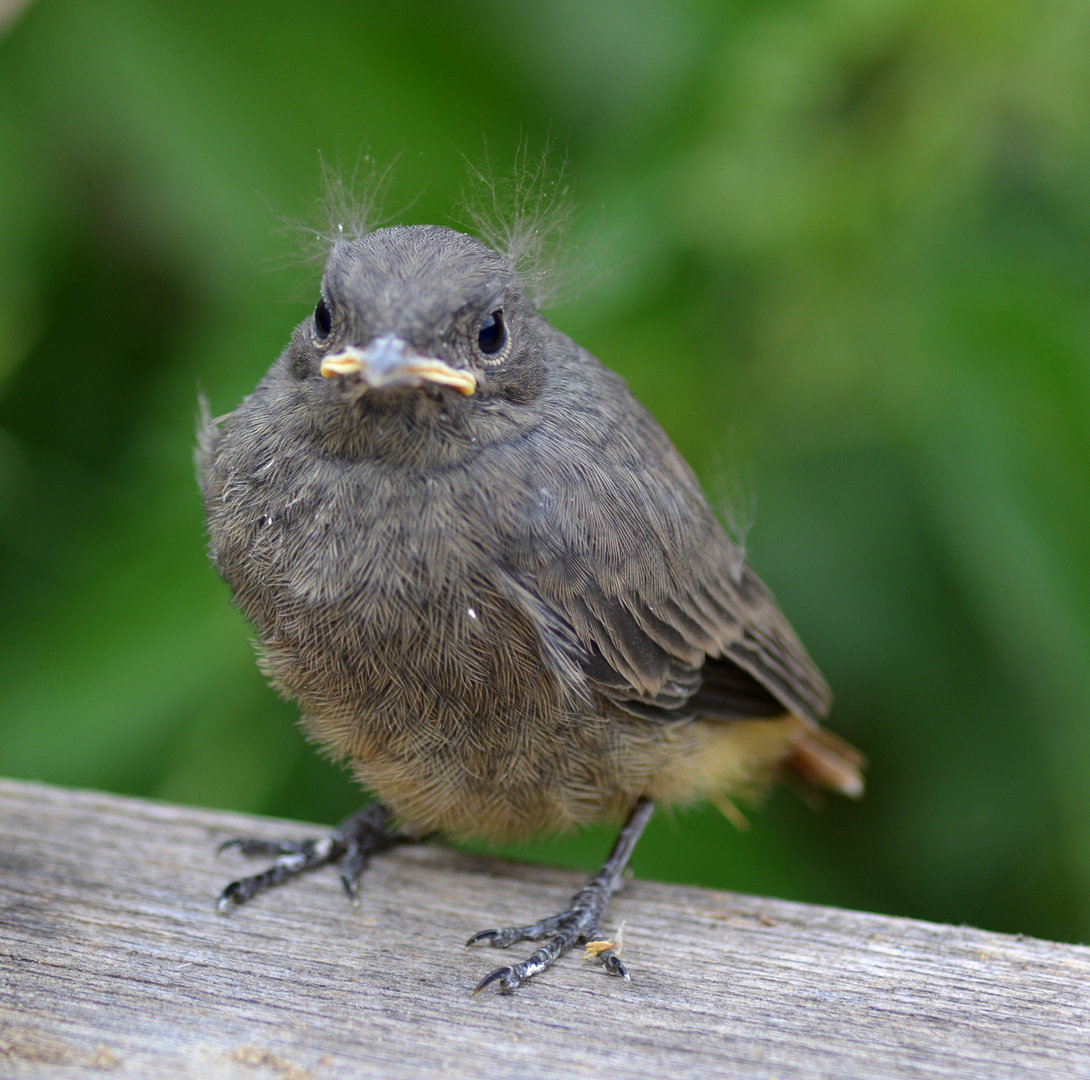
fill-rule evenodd
<path id="1" fill-rule="evenodd" d="M 548 938 L 545 944 L 535 949 L 529 959 L 509 968 L 497 968 L 477 983 L 474 996 L 481 993 L 489 983 L 499 983 L 502 993 L 510 993 L 521 986 L 531 975 L 544 971 L 557 957 L 564 956 L 577 942 L 593 942 L 600 934 L 602 919 L 606 913 L 609 899 L 620 888 L 621 875 L 632 857 L 635 841 L 655 809 L 650 799 L 640 799 L 632 813 L 629 814 L 617 842 L 614 844 L 609 858 L 606 859 L 597 874 L 581 888 L 572 898 L 567 911 L 549 915 L 530 926 L 509 926 L 506 930 L 485 930 L 474 934 L 465 944 L 476 945 L 487 942 L 494 948 L 507 948 L 516 942 L 540 942 Z M 606 972 L 620 975 L 627 980 L 628 970 L 621 963 L 613 947 L 601 949 L 595 954 Z"/>

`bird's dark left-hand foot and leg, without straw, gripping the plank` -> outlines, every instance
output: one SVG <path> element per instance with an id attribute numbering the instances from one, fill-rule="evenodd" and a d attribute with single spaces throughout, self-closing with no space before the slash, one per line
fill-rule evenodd
<path id="1" fill-rule="evenodd" d="M 311 840 L 259 840 L 240 837 L 219 846 L 238 848 L 244 855 L 276 855 L 268 870 L 231 882 L 219 895 L 217 907 L 226 911 L 232 903 L 245 903 L 258 893 L 299 874 L 335 862 L 341 864 L 341 881 L 349 899 L 355 902 L 356 882 L 376 851 L 421 837 L 401 833 L 392 825 L 393 815 L 380 802 L 373 802 L 346 817 L 328 836 Z"/>

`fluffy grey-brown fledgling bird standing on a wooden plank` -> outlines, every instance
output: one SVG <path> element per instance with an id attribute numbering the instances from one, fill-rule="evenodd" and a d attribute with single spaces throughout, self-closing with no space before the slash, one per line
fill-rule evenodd
<path id="1" fill-rule="evenodd" d="M 665 360 L 665 357 L 664 357 Z M 543 944 L 511 992 L 602 938 L 656 804 L 782 777 L 849 797 L 825 680 L 625 380 L 544 316 L 517 262 L 441 226 L 334 239 L 320 295 L 197 450 L 211 561 L 259 665 L 377 801 L 328 836 L 239 838 L 221 910 L 424 838 L 621 824 L 568 909 L 474 934 Z"/>

